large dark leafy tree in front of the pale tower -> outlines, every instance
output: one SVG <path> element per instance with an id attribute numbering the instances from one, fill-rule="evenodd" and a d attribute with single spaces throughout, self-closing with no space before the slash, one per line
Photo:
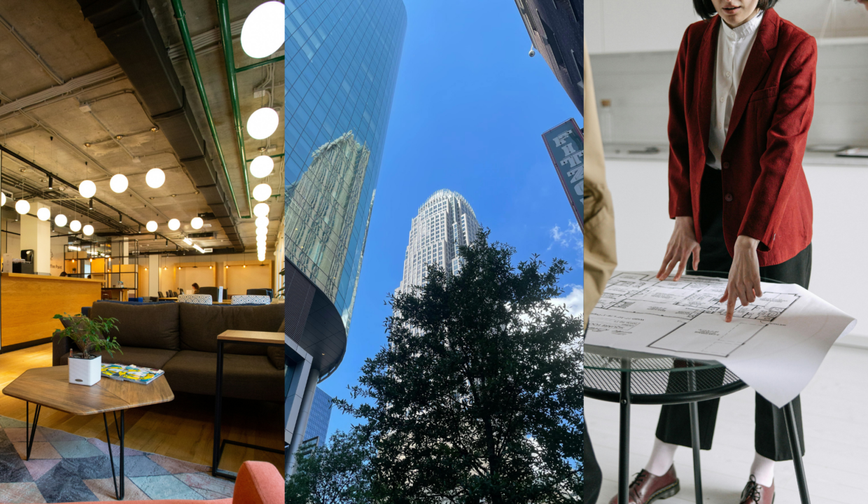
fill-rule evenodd
<path id="1" fill-rule="evenodd" d="M 457 275 L 431 265 L 390 297 L 388 345 L 351 388 L 362 401 L 336 401 L 366 421 L 385 502 L 579 501 L 582 320 L 553 303 L 567 264 L 513 265 L 488 236 Z"/>

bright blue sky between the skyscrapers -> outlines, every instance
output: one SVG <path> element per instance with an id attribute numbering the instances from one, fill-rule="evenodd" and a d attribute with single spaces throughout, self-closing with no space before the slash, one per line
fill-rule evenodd
<path id="1" fill-rule="evenodd" d="M 387 295 L 401 280 L 411 219 L 437 191 L 464 195 L 492 240 L 566 259 L 582 285 L 582 236 L 542 132 L 582 117 L 530 39 L 515 3 L 404 0 L 407 33 L 346 355 L 320 383 L 348 398 L 365 358 L 385 345 Z M 332 409 L 329 434 L 358 421 Z"/>

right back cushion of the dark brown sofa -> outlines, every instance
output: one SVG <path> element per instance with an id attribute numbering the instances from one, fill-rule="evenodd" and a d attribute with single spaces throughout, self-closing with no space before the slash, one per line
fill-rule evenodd
<path id="1" fill-rule="evenodd" d="M 283 305 L 207 306 L 179 304 L 181 311 L 181 350 L 217 352 L 217 337 L 224 331 L 278 331 L 283 321 Z M 253 344 L 227 343 L 227 354 L 266 355 L 266 347 Z M 273 368 L 274 366 L 272 366 Z M 280 370 L 283 370 L 281 365 Z"/>

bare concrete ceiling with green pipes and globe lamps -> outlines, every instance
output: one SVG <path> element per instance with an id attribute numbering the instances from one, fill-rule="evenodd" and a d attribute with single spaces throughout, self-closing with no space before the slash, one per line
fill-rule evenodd
<path id="1" fill-rule="evenodd" d="M 229 1 L 236 68 L 257 62 L 240 49 L 239 36 L 244 19 L 260 3 L 261 0 Z M 183 6 L 237 208 L 232 203 L 216 155 L 172 5 L 168 0 L 151 0 L 149 4 L 174 71 L 193 108 L 207 151 L 213 158 L 223 193 L 233 209 L 233 224 L 246 249 L 254 250 L 253 218 L 242 217 L 251 215 L 251 208 L 257 202 L 248 200 L 245 190 L 245 167 L 240 160 L 234 131 L 226 64 L 217 30 L 216 3 L 213 0 L 184 0 Z M 280 55 L 282 50 L 271 57 Z M 241 72 L 237 79 L 242 121 L 246 122 L 247 117 L 262 106 L 271 106 L 280 115 L 278 131 L 267 141 L 256 141 L 244 135 L 247 159 L 260 154 L 260 147 L 273 146 L 264 154 L 282 154 L 283 62 Z M 254 88 L 266 88 L 268 93 L 254 97 Z M 85 104 L 89 110 L 82 108 Z M 186 232 L 214 232 L 214 239 L 194 239 L 202 247 L 230 246 L 217 219 L 207 219 L 206 227 L 198 231 L 189 226 L 196 214 L 209 212 L 209 206 L 146 110 L 141 96 L 112 53 L 96 36 L 94 26 L 82 15 L 76 0 L 20 2 L 15 3 L 14 8 L 10 3 L 0 3 L 0 144 L 73 185 L 63 187 L 55 181 L 56 190 L 46 191 L 48 181 L 44 173 L 3 154 L 0 173 L 3 191 L 7 195 L 13 194 L 18 200 L 23 185 L 25 197 L 48 200 L 52 215 L 62 212 L 71 220 L 73 211 L 69 206 L 76 206 L 80 211 L 87 208 L 87 200 L 80 198 L 76 187 L 89 178 L 95 181 L 96 198 L 127 216 L 123 224 L 111 219 L 93 218 L 97 233 L 138 232 L 139 226 L 133 219 L 141 223 L 155 220 L 160 225 L 158 232 L 182 247 L 186 247 L 181 241 Z M 117 139 L 119 135 L 122 138 Z M 284 207 L 283 158 L 274 160 L 275 169 L 266 179 L 254 179 L 249 173 L 247 176 L 249 191 L 265 182 L 272 186 L 275 195 L 268 201 L 272 208 L 269 214 L 269 250 L 273 250 Z M 166 173 L 166 183 L 157 189 L 145 183 L 145 173 L 153 167 L 160 167 Z M 118 194 L 109 188 L 109 179 L 115 173 L 128 177 L 126 192 Z M 77 200 L 50 201 L 58 198 Z M 62 208 L 61 204 L 67 208 Z M 108 206 L 97 202 L 95 212 L 116 218 L 117 212 Z M 82 219 L 81 213 L 78 219 L 82 222 L 91 220 L 88 216 Z M 169 231 L 168 219 L 180 219 L 181 229 Z M 57 234 L 66 232 L 69 231 L 57 230 Z M 174 251 L 176 248 L 174 244 L 167 246 L 165 239 L 153 239 L 153 236 L 137 238 L 144 251 Z"/>

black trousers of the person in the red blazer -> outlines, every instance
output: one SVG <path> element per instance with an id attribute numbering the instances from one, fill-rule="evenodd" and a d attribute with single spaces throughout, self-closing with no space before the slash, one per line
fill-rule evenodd
<path id="1" fill-rule="evenodd" d="M 720 170 L 706 167 L 702 175 L 702 193 L 700 201 L 700 229 L 702 230 L 702 250 L 700 252 L 700 270 L 713 272 L 729 272 L 733 258 L 727 252 L 723 240 L 723 187 L 720 180 Z M 692 259 L 687 260 L 693 264 Z M 689 268 L 689 266 L 688 266 Z M 691 268 L 692 269 L 692 268 Z M 811 245 L 799 252 L 794 258 L 779 265 L 759 268 L 759 276 L 779 280 L 786 284 L 797 284 L 808 288 L 811 279 Z M 720 376 L 721 380 L 723 376 Z M 786 421 L 783 409 L 779 409 L 766 401 L 763 396 L 756 395 L 754 410 L 753 445 L 759 455 L 773 461 L 792 460 L 789 438 L 786 435 Z M 700 448 L 711 449 L 714 435 L 714 423 L 717 420 L 717 408 L 720 399 L 701 401 L 700 416 Z M 805 455 L 805 437 L 802 433 L 802 409 L 799 397 L 792 401 L 796 413 L 796 426 L 799 431 L 799 444 L 802 455 Z M 663 406 L 660 420 L 657 422 L 657 438 L 681 446 L 691 447 L 690 439 L 690 409 L 687 404 Z"/>

